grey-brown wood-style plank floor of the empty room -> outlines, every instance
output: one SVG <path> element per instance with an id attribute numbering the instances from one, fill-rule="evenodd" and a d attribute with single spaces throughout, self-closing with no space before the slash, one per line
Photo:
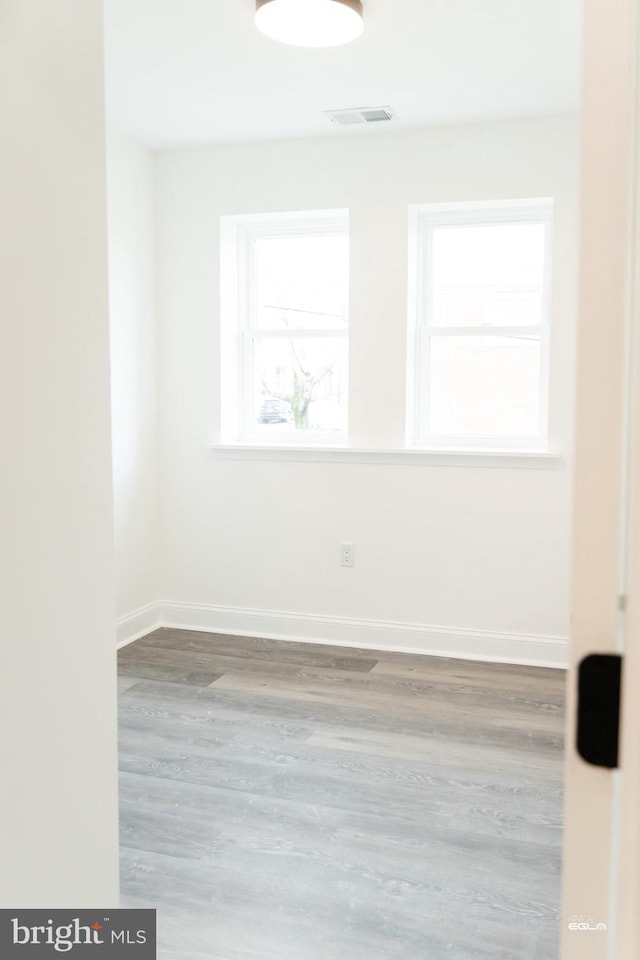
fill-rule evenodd
<path id="1" fill-rule="evenodd" d="M 157 630 L 119 672 L 160 960 L 557 960 L 562 671 Z"/>

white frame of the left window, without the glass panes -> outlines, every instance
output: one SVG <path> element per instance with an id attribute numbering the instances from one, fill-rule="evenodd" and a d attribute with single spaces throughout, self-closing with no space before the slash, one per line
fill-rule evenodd
<path id="1" fill-rule="evenodd" d="M 346 446 L 348 420 L 349 322 L 344 330 L 269 330 L 256 316 L 256 240 L 263 237 L 349 236 L 349 211 L 311 210 L 220 218 L 220 405 L 221 443 L 261 446 Z M 259 339 L 339 338 L 347 345 L 345 428 L 340 432 L 281 430 L 277 436 L 253 420 L 253 357 Z"/>

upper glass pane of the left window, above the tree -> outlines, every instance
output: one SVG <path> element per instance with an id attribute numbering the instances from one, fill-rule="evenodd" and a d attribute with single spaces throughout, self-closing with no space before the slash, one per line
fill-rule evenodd
<path id="1" fill-rule="evenodd" d="M 254 323 L 271 330 L 344 329 L 349 314 L 349 239 L 258 237 Z"/>

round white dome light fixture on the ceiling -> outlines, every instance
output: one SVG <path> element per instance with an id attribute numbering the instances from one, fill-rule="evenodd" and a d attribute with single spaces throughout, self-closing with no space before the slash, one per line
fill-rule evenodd
<path id="1" fill-rule="evenodd" d="M 294 47 L 339 47 L 362 33 L 361 0 L 256 0 L 261 33 Z"/>

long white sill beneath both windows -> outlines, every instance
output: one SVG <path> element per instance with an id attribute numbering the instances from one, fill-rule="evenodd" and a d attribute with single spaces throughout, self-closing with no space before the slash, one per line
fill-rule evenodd
<path id="1" fill-rule="evenodd" d="M 559 454 L 525 450 L 369 450 L 357 447 L 272 446 L 252 443 L 210 444 L 209 449 L 217 460 L 266 460 L 276 463 L 377 463 L 403 467 L 493 467 L 525 470 L 558 470 L 565 466 Z"/>

